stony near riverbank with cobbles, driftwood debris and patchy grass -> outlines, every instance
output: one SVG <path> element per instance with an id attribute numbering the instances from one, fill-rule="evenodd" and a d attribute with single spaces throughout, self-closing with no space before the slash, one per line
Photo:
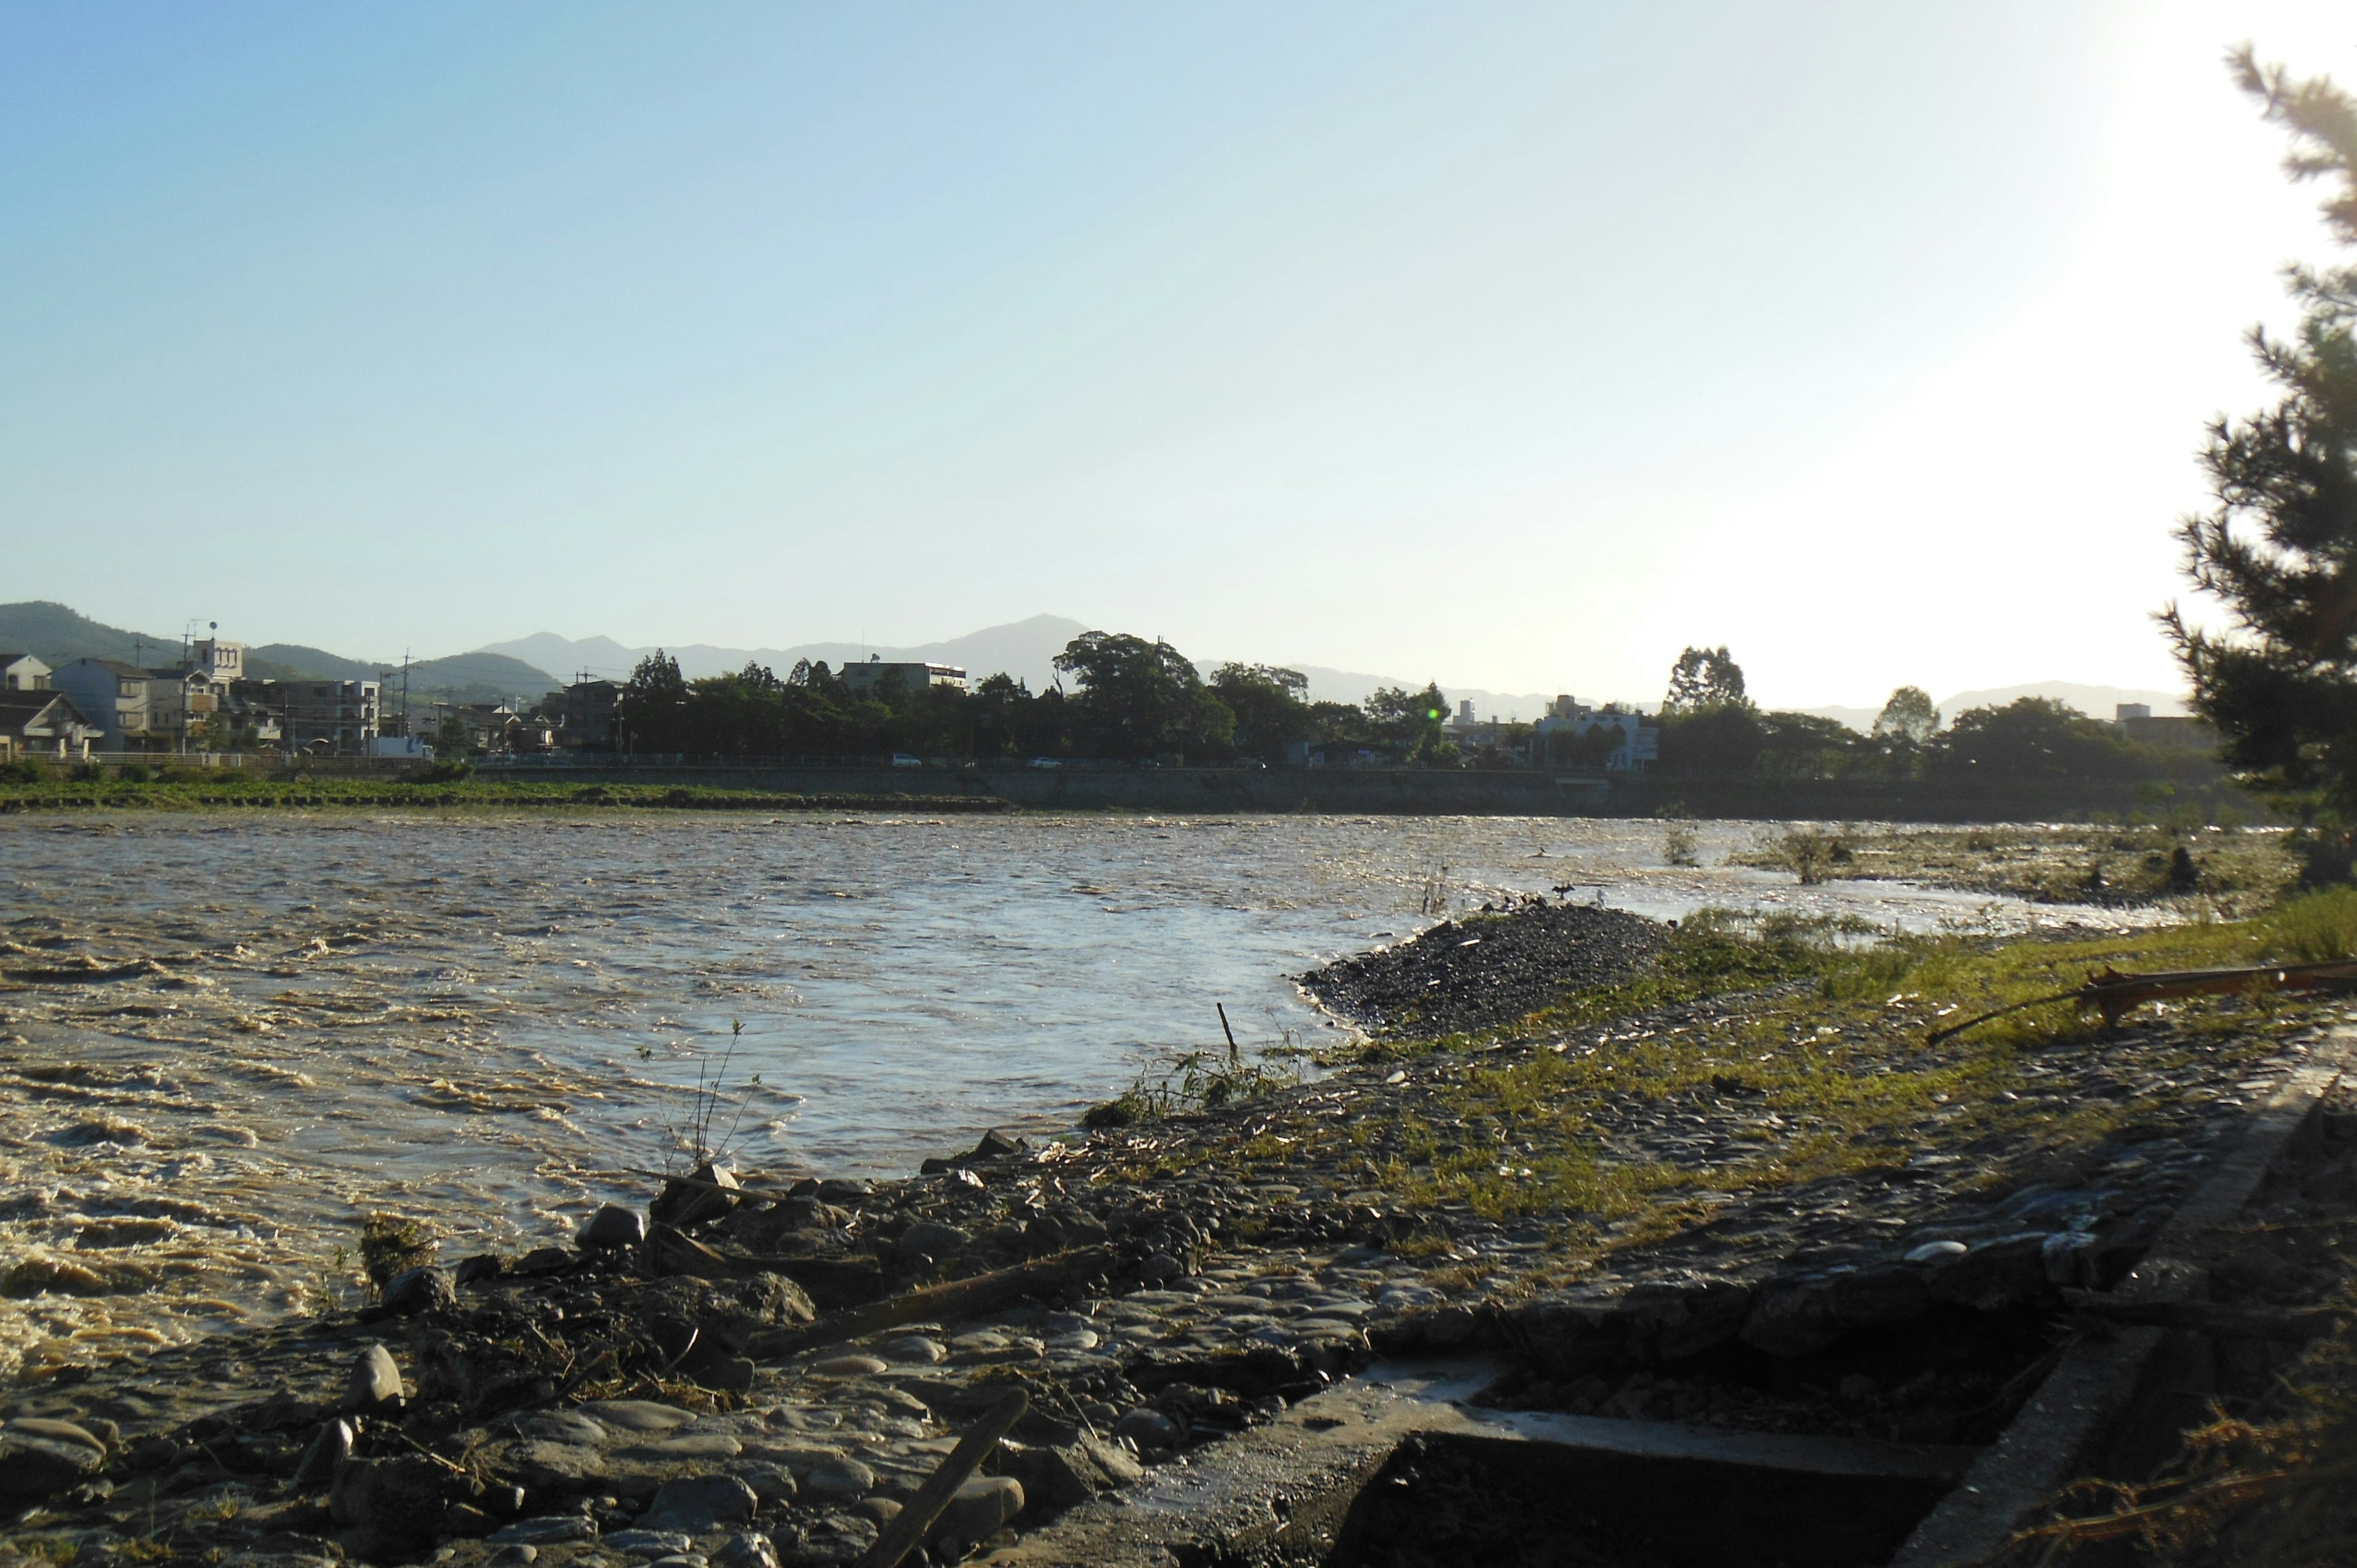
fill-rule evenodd
<path id="1" fill-rule="evenodd" d="M 1508 1358 L 1492 1405 L 1982 1443 L 2055 1351 L 2062 1292 L 2119 1283 L 2343 1012 L 1928 1030 L 2088 967 L 2352 936 L 2345 898 L 1871 950 L 1690 920 L 1525 1019 L 1042 1148 L 985 1139 L 905 1181 L 672 1184 L 504 1257 L 379 1226 L 382 1292 L 12 1391 L 5 1441 L 64 1483 L 14 1542 L 52 1563 L 851 1561 L 1023 1389 L 995 1478 L 929 1530 L 952 1556 L 1374 1353 L 1466 1349 Z M 2303 1247 L 2251 1269 L 2305 1299 L 2331 1259 Z"/>

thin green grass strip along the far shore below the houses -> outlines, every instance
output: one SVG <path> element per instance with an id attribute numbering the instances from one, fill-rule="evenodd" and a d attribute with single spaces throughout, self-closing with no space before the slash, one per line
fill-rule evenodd
<path id="1" fill-rule="evenodd" d="M 481 778 L 75 778 L 0 783 L 0 811 L 236 811 L 273 806 L 625 806 L 651 811 L 1004 811 L 992 797 L 773 795 L 702 785 Z"/>

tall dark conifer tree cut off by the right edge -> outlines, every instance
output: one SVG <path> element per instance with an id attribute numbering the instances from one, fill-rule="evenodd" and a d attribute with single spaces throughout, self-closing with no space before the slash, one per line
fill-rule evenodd
<path id="1" fill-rule="evenodd" d="M 2242 87 L 2291 132 L 2293 179 L 2336 182 L 2324 222 L 2357 245 L 2357 99 L 2329 78 L 2291 80 L 2249 47 Z M 2272 408 L 2216 420 L 2201 450 L 2216 507 L 2183 519 L 2185 573 L 2230 625 L 2204 630 L 2171 604 L 2161 622 L 2244 780 L 2357 825 L 2357 266 L 2286 266 L 2300 325 L 2251 328 L 2279 389 Z"/>

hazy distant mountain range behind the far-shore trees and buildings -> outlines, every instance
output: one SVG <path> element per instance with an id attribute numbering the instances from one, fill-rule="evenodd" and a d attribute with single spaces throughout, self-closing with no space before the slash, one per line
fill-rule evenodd
<path id="1" fill-rule="evenodd" d="M 983 627 L 981 632 L 969 632 L 966 637 L 952 637 L 948 641 L 929 641 L 912 648 L 879 646 L 879 644 L 849 644 L 849 641 L 811 641 L 794 648 L 719 648 L 712 644 L 686 644 L 679 648 L 665 648 L 679 660 L 679 672 L 688 679 L 705 674 L 726 674 L 731 670 L 742 670 L 745 665 L 768 665 L 778 674 L 794 667 L 797 660 L 825 660 L 827 665 L 865 663 L 870 655 L 893 660 L 893 663 L 933 663 L 933 665 L 959 665 L 976 677 L 1006 672 L 1032 691 L 1047 691 L 1056 684 L 1056 655 L 1063 646 L 1087 632 L 1087 622 L 1072 620 L 1068 615 L 1032 615 L 1030 620 L 1014 620 L 999 627 Z M 45 658 L 52 665 L 73 658 L 123 658 L 132 663 L 170 663 L 179 655 L 179 637 L 148 637 L 141 632 L 125 632 L 120 627 L 108 627 L 90 620 L 64 604 L 26 601 L 26 604 L 0 604 L 0 651 L 24 651 Z M 603 679 L 627 679 L 632 667 L 653 646 L 629 648 L 610 637 L 582 637 L 568 639 L 554 632 L 533 632 L 530 637 L 519 637 L 514 641 L 495 641 L 474 653 L 453 653 L 448 658 L 429 658 L 410 665 L 410 698 L 412 700 L 453 700 L 453 703 L 490 703 L 490 700 L 537 700 L 542 693 L 566 686 L 582 674 Z M 358 660 L 344 658 L 342 653 L 328 653 L 325 648 L 306 648 L 299 644 L 259 644 L 247 648 L 247 667 L 259 679 L 382 679 L 394 672 L 398 679 L 401 660 Z M 1209 674 L 1219 660 L 1204 660 L 1202 670 Z M 1365 703 L 1367 693 L 1379 686 L 1407 686 L 1421 689 L 1424 679 L 1398 677 L 1398 674 L 1367 674 L 1360 670 L 1329 670 L 1325 665 L 1292 665 L 1308 677 L 1310 698 L 1320 703 Z M 1546 703 L 1556 693 L 1539 691 L 1485 691 L 1480 686 L 1450 686 L 1440 681 L 1450 703 L 1471 700 L 1473 710 L 1483 717 L 1504 719 L 1537 719 L 1546 712 Z M 2003 705 L 2015 698 L 2036 696 L 2053 698 L 2058 703 L 2069 703 L 2079 712 L 2093 714 L 2098 719 L 2110 719 L 2114 705 L 2119 703 L 2150 703 L 2157 714 L 2185 712 L 2185 698 L 2173 691 L 2135 691 L 2126 686 L 2084 686 L 2077 681 L 2034 681 L 2029 686 L 1999 686 L 1989 691 L 1959 691 L 1940 700 L 1940 712 L 1945 717 L 1956 717 L 1966 707 L 1992 707 Z M 1584 700 L 1600 700 L 1598 693 L 1584 693 Z M 1650 707 L 1650 703 L 1648 703 Z M 1850 729 L 1874 729 L 1874 707 L 1805 707 L 1801 712 L 1820 714 L 1824 719 L 1838 719 Z"/>

